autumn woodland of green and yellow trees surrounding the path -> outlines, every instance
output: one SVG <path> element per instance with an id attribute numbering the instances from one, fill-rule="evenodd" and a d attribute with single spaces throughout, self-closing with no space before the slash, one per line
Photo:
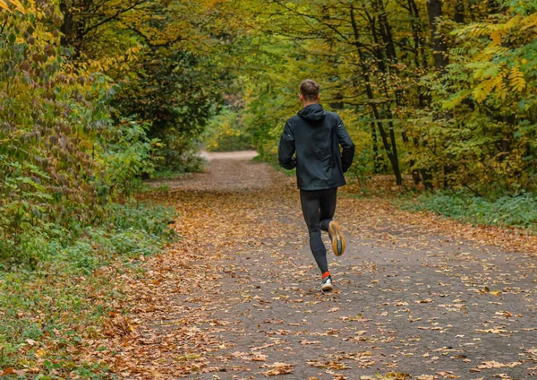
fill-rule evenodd
<path id="1" fill-rule="evenodd" d="M 305 78 L 362 194 L 389 175 L 405 207 L 533 229 L 536 32 L 533 0 L 0 0 L 1 315 L 173 239 L 135 195 L 200 147 L 276 163 Z M 75 288 L 50 313 L 81 313 Z M 14 320 L 0 365 L 45 333 Z"/>

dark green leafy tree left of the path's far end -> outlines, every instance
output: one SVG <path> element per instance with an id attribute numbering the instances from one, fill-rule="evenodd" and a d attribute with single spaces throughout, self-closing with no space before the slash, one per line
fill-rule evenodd
<path id="1" fill-rule="evenodd" d="M 177 170 L 215 112 L 219 91 L 201 74 L 203 60 L 188 52 L 150 48 L 141 68 L 115 97 L 122 116 L 136 114 L 162 143 L 158 168 Z"/>

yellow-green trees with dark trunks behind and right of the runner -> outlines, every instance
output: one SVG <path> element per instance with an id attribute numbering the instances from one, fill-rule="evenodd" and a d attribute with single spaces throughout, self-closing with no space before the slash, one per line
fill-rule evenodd
<path id="1" fill-rule="evenodd" d="M 298 84 L 311 77 L 326 108 L 358 116 L 346 117 L 349 132 L 364 133 L 358 177 L 406 171 L 437 188 L 534 191 L 537 12 L 499 3 L 447 2 L 436 15 L 413 0 L 264 4 L 243 65 L 244 121 L 261 157 L 275 162 Z M 445 54 L 431 50 L 437 39 Z"/>

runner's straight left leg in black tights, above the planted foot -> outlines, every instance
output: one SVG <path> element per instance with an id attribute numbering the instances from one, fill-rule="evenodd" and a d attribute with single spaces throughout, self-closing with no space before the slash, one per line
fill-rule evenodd
<path id="1" fill-rule="evenodd" d="M 321 274 L 328 272 L 327 248 L 320 238 L 320 192 L 300 191 L 303 216 L 310 233 L 310 248 Z"/>

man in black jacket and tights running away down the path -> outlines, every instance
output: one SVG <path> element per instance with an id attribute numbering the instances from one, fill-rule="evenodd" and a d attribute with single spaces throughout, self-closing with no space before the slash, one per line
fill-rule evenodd
<path id="1" fill-rule="evenodd" d="M 353 163 L 354 143 L 341 117 L 325 111 L 319 104 L 320 85 L 317 82 L 303 81 L 299 98 L 303 109 L 286 122 L 279 142 L 278 160 L 283 168 L 296 168 L 303 216 L 310 232 L 311 253 L 321 273 L 319 289 L 328 291 L 333 289 L 333 282 L 320 231 L 328 232 L 334 254 L 343 255 L 345 238 L 332 218 L 336 212 L 337 187 L 346 184 L 343 174 Z"/>

